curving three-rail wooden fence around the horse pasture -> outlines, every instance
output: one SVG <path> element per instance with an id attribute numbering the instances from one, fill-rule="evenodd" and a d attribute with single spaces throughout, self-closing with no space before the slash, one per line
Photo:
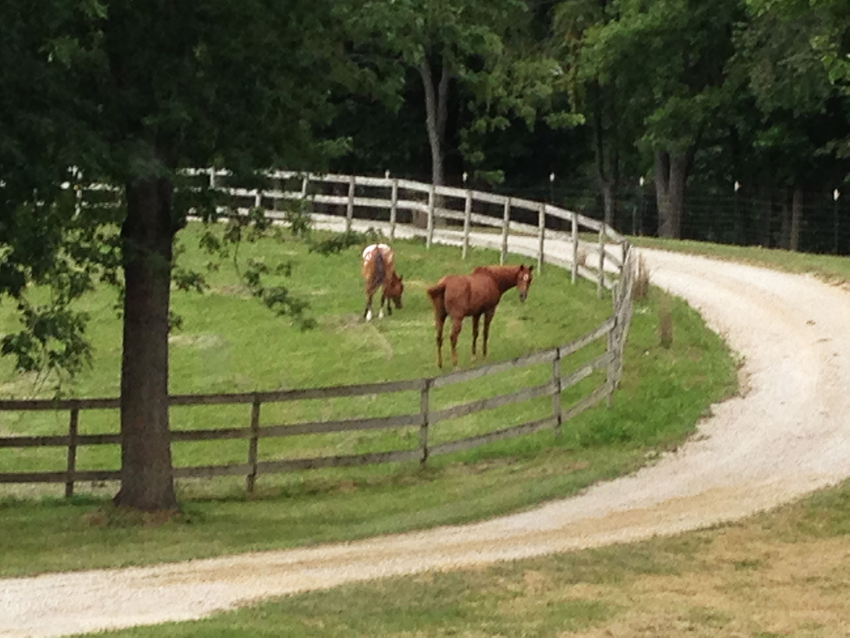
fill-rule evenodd
<path id="1" fill-rule="evenodd" d="M 635 267 L 633 253 L 626 238 L 604 223 L 544 202 L 422 184 L 407 179 L 276 171 L 267 174 L 269 188 L 257 190 L 223 184 L 222 182 L 230 177 L 226 171 L 202 169 L 186 173 L 190 177 L 200 176 L 209 179 L 210 186 L 233 197 L 232 208 L 242 214 L 250 208 L 263 208 L 269 217 L 282 221 L 286 219 L 286 214 L 280 210 L 281 203 L 303 202 L 309 205 L 314 219 L 320 225 L 335 227 L 343 225 L 348 231 L 352 230 L 354 225 L 368 223 L 388 231 L 391 239 L 403 231 L 409 236 L 424 237 L 427 246 L 433 242 L 454 243 L 462 248 L 464 259 L 467 256 L 467 249 L 474 245 L 500 250 L 501 261 L 504 261 L 508 252 L 512 252 L 536 258 L 541 268 L 544 263 L 558 265 L 570 270 L 573 282 L 577 276 L 594 282 L 600 296 L 604 289 L 609 289 L 612 312 L 597 328 L 564 345 L 519 356 L 509 361 L 434 377 L 301 390 L 170 396 L 170 407 L 236 404 L 251 406 L 250 419 L 243 427 L 172 430 L 171 432 L 173 442 L 245 439 L 247 440 L 245 463 L 175 467 L 175 478 L 244 476 L 246 491 L 252 492 L 257 477 L 262 474 L 389 462 L 415 461 L 426 464 L 431 456 L 459 452 L 540 430 L 551 430 L 558 436 L 568 420 L 603 400 L 610 401 L 622 374 L 623 350 L 632 317 L 632 282 Z M 286 185 L 292 183 L 297 185 L 297 188 L 287 190 Z M 360 194 L 358 194 L 359 187 Z M 103 191 L 106 188 L 103 185 L 93 185 L 91 190 Z M 362 192 L 364 189 L 370 189 L 373 192 L 366 197 Z M 346 191 L 344 195 L 336 193 L 341 190 Z M 376 190 L 379 192 L 375 193 Z M 85 203 L 82 202 L 81 205 Z M 331 209 L 331 213 L 328 214 L 326 209 L 322 214 L 316 211 L 319 206 L 334 207 L 337 211 L 344 211 L 344 213 L 333 214 Z M 520 219 L 512 216 L 515 211 L 519 213 L 516 217 Z M 422 215 L 425 222 L 423 227 L 399 219 L 399 213 L 405 212 L 411 216 Z M 536 221 L 536 224 L 531 224 L 530 221 Z M 452 225 L 455 227 L 453 228 Z M 473 230 L 473 225 L 479 230 L 492 228 L 501 232 L 499 235 L 482 233 Z M 569 227 L 569 231 L 563 230 L 564 225 Z M 588 232 L 594 237 L 595 241 L 592 243 L 581 239 L 581 235 L 587 236 Z M 555 244 L 553 240 L 566 242 L 561 245 L 568 247 L 568 254 L 560 254 L 554 250 L 553 246 L 558 244 Z M 595 268 L 581 263 L 581 251 L 589 252 L 590 250 L 597 253 L 598 259 L 589 260 L 589 263 L 596 266 Z M 587 257 L 587 253 L 585 256 Z M 562 364 L 567 362 L 571 355 L 603 338 L 605 338 L 603 354 L 593 356 L 573 369 L 562 369 L 566 367 Z M 499 396 L 465 401 L 441 409 L 432 407 L 433 392 L 439 388 L 540 365 L 547 365 L 550 370 L 548 380 L 544 384 L 525 387 Z M 603 371 L 604 381 L 570 405 L 565 407 L 562 405 L 564 390 L 581 383 L 593 373 Z M 373 396 L 396 392 L 418 392 L 418 411 L 388 417 L 322 420 L 296 424 L 260 424 L 263 405 L 271 403 Z M 450 419 L 462 419 L 469 414 L 484 410 L 529 402 L 540 397 L 551 397 L 551 411 L 545 417 L 474 436 L 450 441 L 431 441 L 431 431 L 435 424 Z M 119 407 L 119 398 L 0 400 L 0 412 L 67 411 L 69 413 L 67 435 L 0 437 L 0 449 L 64 447 L 66 449 L 65 468 L 54 471 L 4 472 L 0 473 L 0 483 L 64 483 L 65 496 L 70 497 L 74 493 L 75 482 L 118 480 L 120 470 L 78 469 L 77 451 L 83 446 L 120 444 L 121 436 L 117 432 L 93 435 L 79 433 L 81 412 L 117 410 Z M 416 447 L 303 459 L 260 460 L 258 457 L 259 441 L 262 439 L 402 428 L 417 430 Z"/>

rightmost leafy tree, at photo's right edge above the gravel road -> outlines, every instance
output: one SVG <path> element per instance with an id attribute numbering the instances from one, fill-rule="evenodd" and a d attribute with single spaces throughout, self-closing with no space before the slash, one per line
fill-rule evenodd
<path id="1" fill-rule="evenodd" d="M 804 193 L 818 185 L 825 153 L 850 157 L 850 5 L 835 0 L 747 0 L 749 20 L 731 70 L 745 77 L 768 122 L 762 146 L 785 156 L 793 192 L 783 244 L 797 250 Z M 843 125 L 842 125 L 843 124 Z M 844 176 L 831 175 L 833 183 Z"/>

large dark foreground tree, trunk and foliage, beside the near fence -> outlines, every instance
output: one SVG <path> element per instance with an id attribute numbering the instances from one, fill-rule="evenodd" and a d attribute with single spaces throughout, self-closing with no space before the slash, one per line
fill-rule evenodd
<path id="1" fill-rule="evenodd" d="M 169 291 L 173 239 L 188 212 L 188 204 L 174 197 L 178 169 L 215 164 L 247 174 L 284 163 L 320 166 L 325 147 L 313 139 L 311 125 L 330 117 L 327 95 L 346 77 L 337 72 L 336 50 L 327 46 L 342 37 L 331 19 L 333 3 L 322 0 L 68 4 L 3 5 L 4 66 L 20 61 L 33 81 L 44 83 L 26 83 L 20 71 L 4 69 L 11 77 L 3 76 L 0 94 L 8 95 L 17 81 L 36 99 L 32 111 L 26 100 L 3 100 L 3 117 L 21 138 L 0 139 L 3 219 L 26 219 L 20 210 L 33 205 L 33 188 L 36 206 L 46 211 L 42 217 L 53 214 L 47 212 L 57 209 L 51 200 L 58 201 L 59 179 L 72 178 L 71 166 L 87 179 L 123 186 L 126 208 L 115 220 L 121 231 L 114 243 L 124 271 L 122 483 L 115 502 L 173 508 Z M 347 77 L 356 81 L 356 73 Z M 42 94 L 50 100 L 38 99 Z M 29 173 L 9 173 L 15 160 L 30 166 Z M 53 215 L 90 227 L 102 221 Z M 52 236 L 69 229 L 4 225 L 0 239 L 14 246 L 24 230 Z M 27 255 L 19 256 L 4 281 L 20 288 L 21 278 L 26 282 L 34 271 Z M 23 352 L 25 345 L 15 342 L 6 350 Z"/>

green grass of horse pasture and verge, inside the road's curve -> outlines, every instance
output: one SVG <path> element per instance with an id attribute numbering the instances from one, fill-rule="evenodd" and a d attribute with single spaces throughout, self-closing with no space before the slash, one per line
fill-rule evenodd
<path id="1" fill-rule="evenodd" d="M 197 248 L 197 228 L 181 237 L 182 259 L 201 268 L 209 257 Z M 308 299 L 317 328 L 301 332 L 275 318 L 241 287 L 233 267 L 208 275 L 206 294 L 173 296 L 183 328 L 172 336 L 171 391 L 235 392 L 303 388 L 433 376 L 433 318 L 424 293 L 449 272 L 468 272 L 494 263 L 496 253 L 473 250 L 466 262 L 458 248 L 421 242 L 395 242 L 398 270 L 405 276 L 405 307 L 382 321 L 360 321 L 363 307 L 361 247 L 324 257 L 309 253 L 288 236 L 245 243 L 240 263 L 264 259 L 271 266 L 292 261 L 292 277 L 280 277 L 292 293 Z M 515 260 L 514 260 L 515 263 Z M 274 281 L 274 278 L 272 279 Z M 121 325 L 116 294 L 103 289 L 84 300 L 92 315 L 90 336 L 96 348 L 94 369 L 64 389 L 69 396 L 115 396 L 120 367 Z M 660 305 L 672 316 L 673 339 L 662 347 Z M 508 292 L 496 312 L 490 335 L 490 361 L 563 344 L 596 327 L 610 313 L 610 299 L 597 299 L 591 282 L 572 285 L 555 267 L 536 274 L 528 301 Z M 0 311 L 8 313 L 7 307 Z M 2 318 L 11 325 L 10 315 Z M 469 356 L 470 326 L 461 335 L 462 367 Z M 603 339 L 604 341 L 604 339 Z M 595 356 L 594 345 L 565 362 Z M 32 379 L 15 377 L 2 361 L 3 396 L 31 396 Z M 736 362 L 716 334 L 680 300 L 653 289 L 635 305 L 626 348 L 624 376 L 611 407 L 604 404 L 564 425 L 563 435 L 541 432 L 501 441 L 467 453 L 418 464 L 387 464 L 342 470 L 312 470 L 258 478 L 257 491 L 244 493 L 240 477 L 179 481 L 179 516 L 162 522 L 111 508 L 115 485 L 77 487 L 80 496 L 58 497 L 62 487 L 5 487 L 0 501 L 0 575 L 52 570 L 136 565 L 157 561 L 265 550 L 363 538 L 435 525 L 473 521 L 522 510 L 569 496 L 594 481 L 620 476 L 677 446 L 693 431 L 712 402 L 736 389 Z M 548 366 L 496 375 L 483 383 L 445 388 L 433 407 L 495 395 L 544 382 Z M 598 373 L 565 391 L 564 407 L 602 380 Z M 381 416 L 418 410 L 416 393 L 370 396 L 330 402 L 263 406 L 262 424 Z M 545 416 L 548 397 L 489 413 L 438 424 L 433 441 L 469 436 Z M 82 413 L 81 432 L 117 430 L 115 411 Z M 173 429 L 246 427 L 250 406 L 185 407 L 172 412 Z M 66 413 L 6 413 L 6 435 L 62 434 Z M 261 441 L 261 459 L 360 453 L 416 447 L 416 429 L 354 432 Z M 406 447 L 405 447 L 406 446 Z M 246 441 L 179 443 L 178 466 L 241 463 Z M 118 467 L 116 446 L 81 447 L 79 468 Z M 65 451 L 0 450 L 4 471 L 64 468 Z M 43 497 L 49 490 L 52 497 Z M 38 498 L 42 497 L 42 498 Z"/>

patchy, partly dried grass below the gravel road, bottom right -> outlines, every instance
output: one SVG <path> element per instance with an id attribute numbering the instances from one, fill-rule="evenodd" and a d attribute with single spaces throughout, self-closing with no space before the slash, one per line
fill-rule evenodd
<path id="1" fill-rule="evenodd" d="M 104 636 L 850 634 L 850 481 L 745 521 L 478 569 L 347 584 Z"/>

